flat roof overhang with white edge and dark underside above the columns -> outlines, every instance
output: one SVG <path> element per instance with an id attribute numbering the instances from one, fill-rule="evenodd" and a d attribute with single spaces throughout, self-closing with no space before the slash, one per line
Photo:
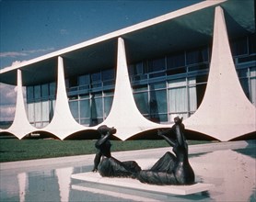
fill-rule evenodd
<path id="1" fill-rule="evenodd" d="M 17 83 L 17 69 L 23 85 L 56 81 L 57 58 L 64 58 L 65 76 L 80 75 L 116 66 L 117 39 L 125 41 L 127 62 L 157 57 L 173 51 L 212 43 L 215 6 L 225 11 L 228 36 L 242 37 L 255 33 L 253 0 L 204 1 L 128 28 L 89 39 L 39 58 L 0 70 L 0 82 Z"/>

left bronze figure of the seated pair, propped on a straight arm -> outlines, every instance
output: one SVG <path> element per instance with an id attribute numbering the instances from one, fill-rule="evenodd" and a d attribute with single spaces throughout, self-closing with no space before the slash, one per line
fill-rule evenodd
<path id="1" fill-rule="evenodd" d="M 95 159 L 93 172 L 98 172 L 104 177 L 131 177 L 135 178 L 141 171 L 141 167 L 134 161 L 120 162 L 111 156 L 110 137 L 116 133 L 116 129 L 106 125 L 97 129 L 100 133 L 99 140 L 95 147 L 98 149 Z"/>

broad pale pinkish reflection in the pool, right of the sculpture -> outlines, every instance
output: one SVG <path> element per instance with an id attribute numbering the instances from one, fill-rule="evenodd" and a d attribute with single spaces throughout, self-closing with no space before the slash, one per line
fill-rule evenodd
<path id="1" fill-rule="evenodd" d="M 253 151 L 252 151 L 253 152 Z M 237 151 L 214 151 L 191 160 L 198 181 L 215 185 L 216 201 L 249 201 L 256 186 L 254 158 Z"/>

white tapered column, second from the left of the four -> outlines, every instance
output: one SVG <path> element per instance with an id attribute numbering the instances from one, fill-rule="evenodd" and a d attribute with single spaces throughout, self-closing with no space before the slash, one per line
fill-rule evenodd
<path id="1" fill-rule="evenodd" d="M 64 83 L 64 60 L 58 57 L 58 81 L 55 109 L 51 123 L 41 131 L 47 131 L 61 140 L 67 136 L 79 131 L 87 129 L 76 122 L 73 118 L 68 105 L 68 98 Z"/>

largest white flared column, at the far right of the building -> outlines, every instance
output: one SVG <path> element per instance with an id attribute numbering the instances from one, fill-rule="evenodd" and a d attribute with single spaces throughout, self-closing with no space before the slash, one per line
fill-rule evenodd
<path id="1" fill-rule="evenodd" d="M 239 84 L 223 10 L 217 6 L 212 60 L 204 99 L 192 117 L 184 120 L 184 124 L 186 129 L 226 141 L 255 131 L 255 118 L 255 107 Z"/>

